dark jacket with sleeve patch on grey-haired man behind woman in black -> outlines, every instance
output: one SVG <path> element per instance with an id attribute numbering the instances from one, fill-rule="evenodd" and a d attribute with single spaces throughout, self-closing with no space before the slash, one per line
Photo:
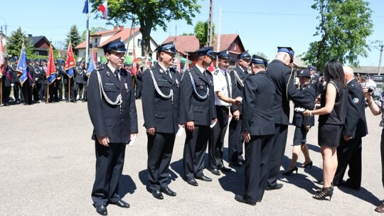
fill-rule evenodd
<path id="1" fill-rule="evenodd" d="M 348 82 L 348 106 L 343 136 L 356 138 L 368 134 L 365 104 L 363 90 L 358 81 L 353 79 Z"/>

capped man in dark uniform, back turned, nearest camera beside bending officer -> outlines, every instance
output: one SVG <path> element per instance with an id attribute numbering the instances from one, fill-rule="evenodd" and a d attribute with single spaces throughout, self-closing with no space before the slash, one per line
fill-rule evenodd
<path id="1" fill-rule="evenodd" d="M 242 136 L 245 140 L 245 192 L 235 200 L 249 205 L 261 202 L 268 179 L 268 163 L 274 134 L 275 88 L 265 72 L 268 60 L 253 55 L 252 75 L 244 81 Z"/>

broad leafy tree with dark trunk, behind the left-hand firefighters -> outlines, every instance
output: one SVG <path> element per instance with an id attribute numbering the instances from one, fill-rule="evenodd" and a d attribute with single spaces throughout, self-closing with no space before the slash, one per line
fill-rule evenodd
<path id="1" fill-rule="evenodd" d="M 104 0 L 90 0 L 93 11 Z M 108 18 L 110 24 L 114 21 L 116 26 L 119 23 L 127 23 L 132 20 L 139 24 L 142 33 L 142 55 L 150 54 L 150 40 L 152 29 L 167 29 L 169 21 L 183 19 L 192 25 L 192 18 L 199 11 L 200 6 L 197 0 L 108 0 Z M 101 18 L 97 13 L 95 18 Z"/>

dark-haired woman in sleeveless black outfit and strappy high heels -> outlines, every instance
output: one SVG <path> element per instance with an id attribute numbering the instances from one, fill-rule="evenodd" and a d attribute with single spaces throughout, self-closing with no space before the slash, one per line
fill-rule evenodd
<path id="1" fill-rule="evenodd" d="M 321 94 L 321 108 L 306 110 L 304 116 L 319 115 L 318 141 L 323 157 L 323 188 L 313 196 L 316 200 L 331 200 L 334 187 L 331 185 L 337 168 L 336 147 L 346 119 L 348 88 L 343 65 L 338 60 L 329 60 L 324 67 L 326 85 Z"/>

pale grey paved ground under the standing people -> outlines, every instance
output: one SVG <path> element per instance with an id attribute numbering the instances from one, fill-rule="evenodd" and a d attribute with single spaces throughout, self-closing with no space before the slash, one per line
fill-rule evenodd
<path id="1" fill-rule="evenodd" d="M 367 109 L 369 134 L 363 139 L 363 183 L 359 191 L 335 188 L 331 202 L 311 198 L 321 180 L 321 155 L 316 126 L 309 131 L 314 166 L 299 169 L 285 178 L 281 190 L 267 191 L 261 203 L 245 205 L 234 200 L 244 190 L 243 168 L 216 176 L 198 187 L 182 178 L 185 134 L 176 137 L 171 161 L 170 188 L 176 197 L 156 200 L 146 191 L 146 134 L 142 103 L 137 101 L 139 136 L 127 147 L 120 180 L 121 195 L 129 209 L 107 207 L 109 215 L 380 215 L 375 206 L 384 198 L 380 171 L 380 117 Z M 87 104 L 11 105 L 0 107 L 0 215 L 97 215 L 90 192 L 95 175 L 95 147 L 90 139 L 92 124 Z M 294 127 L 289 126 L 283 158 L 291 158 Z M 227 139 L 226 139 L 227 141 Z M 228 158 L 225 143 L 225 160 Z M 299 157 L 299 162 L 304 160 Z"/>

